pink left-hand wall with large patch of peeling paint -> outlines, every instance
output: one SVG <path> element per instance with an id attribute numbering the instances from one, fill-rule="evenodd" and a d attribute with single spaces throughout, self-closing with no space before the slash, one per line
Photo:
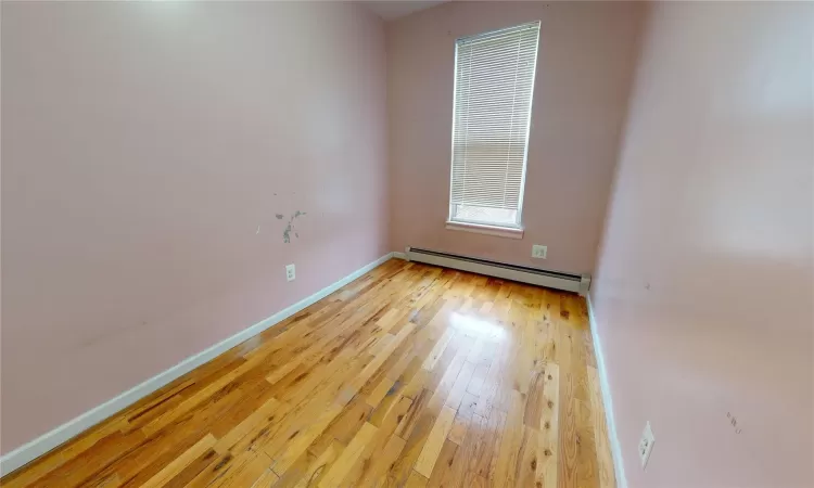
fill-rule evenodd
<path id="1" fill-rule="evenodd" d="M 353 3 L 3 2 L 2 452 L 389 252 L 385 88 Z"/>

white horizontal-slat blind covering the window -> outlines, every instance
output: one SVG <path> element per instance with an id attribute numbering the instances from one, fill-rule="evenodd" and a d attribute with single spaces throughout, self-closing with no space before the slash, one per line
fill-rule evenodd
<path id="1" fill-rule="evenodd" d="M 519 228 L 539 22 L 458 39 L 449 220 Z"/>

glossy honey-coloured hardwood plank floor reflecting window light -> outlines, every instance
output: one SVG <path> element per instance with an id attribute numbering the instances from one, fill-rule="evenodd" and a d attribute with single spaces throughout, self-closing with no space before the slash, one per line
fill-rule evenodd
<path id="1" fill-rule="evenodd" d="M 584 300 L 402 260 L 0 483 L 614 486 Z"/>

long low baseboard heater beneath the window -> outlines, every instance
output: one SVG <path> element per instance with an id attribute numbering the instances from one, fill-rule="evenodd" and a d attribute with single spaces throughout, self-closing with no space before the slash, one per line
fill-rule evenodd
<path id="1" fill-rule="evenodd" d="M 410 261 L 427 262 L 428 265 L 459 269 L 487 277 L 545 286 L 547 288 L 564 290 L 567 292 L 578 293 L 582 296 L 586 296 L 590 288 L 590 274 L 581 275 L 545 271 L 525 266 L 507 265 L 418 247 L 407 247 L 406 258 Z"/>

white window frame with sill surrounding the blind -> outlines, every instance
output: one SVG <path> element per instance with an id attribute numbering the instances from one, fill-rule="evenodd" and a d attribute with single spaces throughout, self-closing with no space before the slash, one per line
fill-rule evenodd
<path id="1" fill-rule="evenodd" d="M 534 112 L 534 91 L 536 88 L 537 82 L 537 56 L 539 55 L 539 33 L 537 34 L 537 43 L 534 47 L 534 69 L 532 72 L 532 81 L 531 81 L 531 97 L 529 98 L 529 116 L 526 119 L 526 127 L 525 127 L 525 147 L 523 149 L 523 169 L 520 177 L 520 197 L 518 198 L 518 208 L 517 208 L 517 216 L 514 219 L 514 222 L 512 224 L 507 224 L 504 222 L 486 222 L 486 221 L 475 221 L 475 220 L 469 220 L 469 219 L 461 219 L 455 217 L 455 206 L 459 204 L 453 203 L 453 177 L 454 177 L 454 165 L 455 165 L 455 120 L 456 120 L 456 114 L 458 110 L 458 48 L 460 46 L 460 41 L 467 40 L 467 39 L 474 39 L 482 36 L 489 36 L 497 33 L 500 33 L 503 30 L 510 30 L 510 29 L 517 29 L 524 26 L 534 26 L 536 25 L 537 29 L 540 29 L 540 22 L 534 21 L 534 22 L 526 22 L 523 24 L 518 24 L 509 27 L 504 27 L 499 29 L 494 30 L 486 30 L 483 33 L 474 34 L 471 36 L 462 36 L 457 39 L 455 39 L 455 57 L 454 57 L 454 67 L 453 67 L 453 126 L 451 126 L 451 138 L 450 138 L 450 149 L 449 149 L 449 195 L 448 195 L 448 213 L 447 213 L 447 220 L 446 220 L 446 228 L 449 230 L 471 230 L 472 232 L 478 233 L 485 233 L 491 235 L 500 235 L 500 236 L 511 236 L 514 239 L 520 239 L 523 235 L 523 201 L 525 197 L 525 178 L 526 178 L 526 171 L 529 167 L 529 143 L 531 130 L 532 130 L 532 113 Z"/>

